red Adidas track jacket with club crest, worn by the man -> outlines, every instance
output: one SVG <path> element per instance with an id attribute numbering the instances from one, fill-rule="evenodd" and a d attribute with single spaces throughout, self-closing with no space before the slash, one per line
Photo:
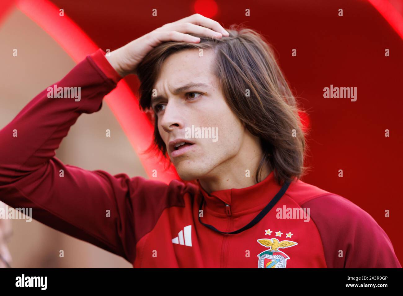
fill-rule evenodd
<path id="1" fill-rule="evenodd" d="M 119 80 L 99 49 L 56 83 L 81 87 L 81 101 L 48 98 L 45 89 L 0 131 L 0 200 L 33 208 L 33 219 L 133 267 L 401 267 L 367 212 L 300 180 L 283 195 L 273 173 L 251 187 L 208 194 L 199 183 L 166 185 L 63 164 L 55 150 L 69 128 L 81 113 L 100 110 Z M 309 219 L 288 219 L 289 208 L 309 210 Z M 213 229 L 245 225 L 251 227 L 236 234 Z"/>

